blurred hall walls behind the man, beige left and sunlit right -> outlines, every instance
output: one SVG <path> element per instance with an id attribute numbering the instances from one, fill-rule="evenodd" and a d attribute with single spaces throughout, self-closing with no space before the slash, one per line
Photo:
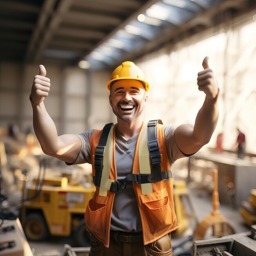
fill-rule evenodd
<path id="1" fill-rule="evenodd" d="M 209 56 L 220 88 L 220 119 L 207 146 L 214 147 L 218 133 L 224 132 L 224 148 L 234 150 L 236 128 L 240 128 L 246 135 L 247 152 L 255 154 L 255 41 L 256 22 L 247 18 L 209 29 L 137 60 L 150 83 L 144 118 L 162 119 L 165 124 L 194 123 L 204 101 L 204 93 L 196 84 L 197 73 L 202 70 L 204 56 Z M 111 72 L 45 67 L 52 85 L 45 105 L 59 134 L 115 122 L 106 90 Z M 29 94 L 35 74 L 38 65 L 0 63 L 0 126 L 18 124 L 23 132 L 32 127 Z"/>

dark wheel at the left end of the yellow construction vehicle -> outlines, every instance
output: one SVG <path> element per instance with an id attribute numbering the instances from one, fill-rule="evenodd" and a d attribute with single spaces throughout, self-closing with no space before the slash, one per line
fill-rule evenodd
<path id="1" fill-rule="evenodd" d="M 43 241 L 49 237 L 49 230 L 41 213 L 29 213 L 27 215 L 24 232 L 27 240 L 30 241 Z"/>

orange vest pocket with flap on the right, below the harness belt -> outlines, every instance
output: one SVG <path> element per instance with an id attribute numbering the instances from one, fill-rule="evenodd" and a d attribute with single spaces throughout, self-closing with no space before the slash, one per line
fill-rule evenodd
<path id="1" fill-rule="evenodd" d="M 145 215 L 152 234 L 173 224 L 174 213 L 165 188 L 160 191 L 140 195 L 145 207 Z"/>

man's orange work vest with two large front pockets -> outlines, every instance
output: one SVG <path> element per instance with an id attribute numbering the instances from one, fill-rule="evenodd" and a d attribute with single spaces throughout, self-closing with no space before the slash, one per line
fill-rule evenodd
<path id="1" fill-rule="evenodd" d="M 159 155 L 161 157 L 162 163 L 161 163 L 161 171 L 162 171 L 162 180 L 154 182 L 153 181 L 153 173 L 154 173 L 154 166 L 150 161 L 150 167 L 151 167 L 151 173 L 148 171 L 148 173 L 139 173 L 139 147 L 144 144 L 141 140 L 141 137 L 143 135 L 143 128 L 146 129 L 144 125 L 141 127 L 139 137 L 137 139 L 137 144 L 135 148 L 135 155 L 132 165 L 132 173 L 126 176 L 125 182 L 121 182 L 121 184 L 117 181 L 117 170 L 115 166 L 115 128 L 112 129 L 111 135 L 112 135 L 112 159 L 110 159 L 110 151 L 109 153 L 105 154 L 105 158 L 109 158 L 110 164 L 110 170 L 108 171 L 106 168 L 106 163 L 104 162 L 104 173 L 105 171 L 109 172 L 109 177 L 105 174 L 101 173 L 104 177 L 107 177 L 107 183 L 105 183 L 105 189 L 104 193 L 107 195 L 100 195 L 100 184 L 96 186 L 96 191 L 94 193 L 93 198 L 89 201 L 88 206 L 85 211 L 85 223 L 87 225 L 87 228 L 90 232 L 92 232 L 97 238 L 104 244 L 105 247 L 109 247 L 110 243 L 110 223 L 111 223 L 111 216 L 112 216 L 112 208 L 114 204 L 115 199 L 115 191 L 108 189 L 111 180 L 115 180 L 115 182 L 112 182 L 111 185 L 115 185 L 117 188 L 117 185 L 121 186 L 121 190 L 123 190 L 122 184 L 125 184 L 127 182 L 132 182 L 132 187 L 135 191 L 138 207 L 139 207 L 139 213 L 141 217 L 141 225 L 142 225 L 142 232 L 143 232 L 143 243 L 144 245 L 147 245 L 149 243 L 154 242 L 155 240 L 161 238 L 165 234 L 170 233 L 171 231 L 177 229 L 177 218 L 175 215 L 175 209 L 174 209 L 174 201 L 173 201 L 173 182 L 172 182 L 172 174 L 171 174 L 171 166 L 170 162 L 168 160 L 168 153 L 165 143 L 165 137 L 164 137 L 164 126 L 162 124 L 157 125 L 157 141 L 159 145 L 159 153 L 157 153 L 157 146 L 155 146 L 155 139 L 151 137 L 151 140 L 153 143 L 149 143 L 148 146 L 149 150 L 151 150 L 151 159 L 153 158 L 153 163 L 157 164 L 159 162 Z M 148 133 L 152 133 L 149 129 Z M 93 176 L 96 175 L 96 170 L 94 168 L 95 164 L 95 155 L 97 151 L 97 170 L 103 170 L 103 159 L 104 157 L 98 157 L 99 155 L 102 156 L 101 153 L 101 147 L 106 148 L 106 142 L 105 144 L 100 144 L 100 149 L 96 150 L 97 146 L 99 145 L 99 141 L 101 138 L 103 131 L 102 130 L 95 130 L 92 133 L 91 139 L 90 139 L 90 146 L 91 146 L 91 159 L 92 159 L 92 172 Z M 111 136 L 110 135 L 110 136 Z M 144 136 L 144 135 L 143 135 Z M 108 135 L 105 137 L 106 141 L 108 138 Z M 145 139 L 146 140 L 146 139 Z M 142 146 L 143 147 L 143 146 Z M 100 153 L 99 153 L 99 152 Z M 153 152 L 153 154 L 152 154 Z M 103 152 L 105 153 L 105 152 Z M 108 157 L 107 157 L 108 155 Z M 146 158 L 146 156 L 145 156 Z M 157 159 L 158 158 L 158 159 Z M 101 161 L 102 159 L 102 161 Z M 106 159 L 107 160 L 107 159 Z M 105 161 L 106 161 L 105 160 Z M 148 161 L 148 160 L 147 160 Z M 146 161 L 146 162 L 147 162 Z M 101 165 L 101 168 L 99 164 Z M 141 167 L 143 169 L 143 167 Z M 143 170 L 142 170 L 143 171 Z M 109 180 L 111 179 L 111 180 Z M 97 180 L 97 179 L 96 179 Z M 119 180 L 120 181 L 120 180 Z M 121 180 L 122 181 L 122 180 Z M 101 182 L 99 182 L 101 183 Z M 143 191 L 141 184 L 145 183 L 151 183 L 150 186 L 152 186 L 152 193 L 147 193 L 147 191 Z M 103 183 L 102 183 L 103 185 Z M 107 189 L 106 189 L 107 187 Z"/>

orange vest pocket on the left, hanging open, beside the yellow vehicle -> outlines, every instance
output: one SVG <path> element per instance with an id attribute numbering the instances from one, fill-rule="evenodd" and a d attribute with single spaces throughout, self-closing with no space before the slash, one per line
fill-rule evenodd
<path id="1" fill-rule="evenodd" d="M 85 223 L 88 229 L 104 236 L 106 233 L 106 204 L 107 196 L 97 195 L 96 201 L 92 198 L 85 210 Z"/>

